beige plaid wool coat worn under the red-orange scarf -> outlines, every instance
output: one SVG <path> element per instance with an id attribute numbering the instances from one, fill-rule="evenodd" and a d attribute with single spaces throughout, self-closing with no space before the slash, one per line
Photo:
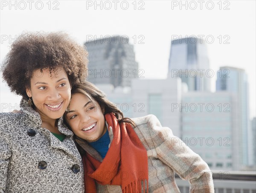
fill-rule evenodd
<path id="1" fill-rule="evenodd" d="M 191 193 L 214 193 L 212 173 L 203 159 L 187 147 L 180 138 L 172 134 L 168 127 L 162 127 L 154 115 L 132 118 L 134 131 L 147 150 L 148 190 L 150 193 L 179 193 L 174 173 L 189 180 Z M 113 141 L 113 131 L 109 128 Z M 102 157 L 86 141 L 80 138 L 76 142 L 99 161 Z M 99 176 L 100 177 L 100 176 Z M 101 185 L 96 183 L 99 193 L 120 193 L 119 185 Z"/>

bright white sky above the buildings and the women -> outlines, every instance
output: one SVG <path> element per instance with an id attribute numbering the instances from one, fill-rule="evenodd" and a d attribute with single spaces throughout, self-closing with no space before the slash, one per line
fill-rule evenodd
<path id="1" fill-rule="evenodd" d="M 13 4 L 11 7 L 9 7 L 10 2 Z M 130 38 L 129 42 L 134 43 L 135 38 L 132 37 L 136 35 L 134 51 L 139 69 L 144 69 L 145 78 L 162 79 L 167 77 L 173 36 L 195 35 L 198 41 L 201 35 L 212 36 L 213 43 L 207 43 L 210 68 L 215 72 L 220 66 L 245 69 L 248 75 L 250 118 L 252 118 L 256 115 L 255 2 L 255 0 L 205 0 L 200 5 L 200 1 L 184 0 L 182 3 L 188 5 L 186 9 L 186 6 L 180 8 L 180 1 L 119 0 L 116 1 L 115 9 L 115 1 L 35 0 L 30 4 L 29 1 L 1 1 L 0 61 L 2 63 L 9 52 L 10 43 L 14 41 L 11 38 L 15 38 L 15 35 L 19 36 L 22 32 L 65 31 L 81 44 L 88 36 L 100 38 L 101 35 L 103 37 L 126 35 Z M 102 3 L 102 7 L 95 8 L 95 3 Z M 91 4 L 93 6 L 89 6 Z M 112 7 L 109 9 L 110 4 Z M 51 5 L 50 9 L 49 5 Z M 127 5 L 129 7 L 125 10 Z M 197 7 L 194 9 L 195 5 Z M 214 5 L 213 9 L 211 9 L 212 5 Z M 41 6 L 43 7 L 40 10 Z M 58 10 L 54 10 L 54 7 Z M 139 10 L 139 7 L 144 10 Z M 138 38 L 139 35 L 142 36 Z M 138 43 L 139 40 L 144 44 Z M 225 40 L 230 44 L 224 44 Z M 210 41 L 211 38 L 208 39 L 208 42 Z M 212 78 L 212 91 L 215 90 L 215 79 Z M 10 108 L 5 108 L 3 105 L 19 104 L 20 97 L 11 94 L 2 80 L 0 89 L 1 112 L 9 112 Z M 15 105 L 12 106 L 14 107 L 11 107 L 11 110 L 15 109 Z"/>

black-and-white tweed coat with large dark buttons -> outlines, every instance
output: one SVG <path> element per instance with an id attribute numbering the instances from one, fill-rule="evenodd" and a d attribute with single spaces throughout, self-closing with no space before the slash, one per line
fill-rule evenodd
<path id="1" fill-rule="evenodd" d="M 41 127 L 27 101 L 20 107 L 20 113 L 0 113 L 0 193 L 83 193 L 81 156 L 63 118 L 61 142 Z"/>

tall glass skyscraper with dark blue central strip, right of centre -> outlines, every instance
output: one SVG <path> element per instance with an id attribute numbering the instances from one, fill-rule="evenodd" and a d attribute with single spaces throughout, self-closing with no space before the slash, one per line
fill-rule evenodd
<path id="1" fill-rule="evenodd" d="M 189 91 L 210 91 L 212 72 L 204 40 L 195 37 L 172 40 L 168 77 L 179 76 Z"/>

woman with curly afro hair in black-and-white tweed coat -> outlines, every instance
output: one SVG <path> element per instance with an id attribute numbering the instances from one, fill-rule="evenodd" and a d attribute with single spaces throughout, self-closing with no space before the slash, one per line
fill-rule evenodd
<path id="1" fill-rule="evenodd" d="M 84 192 L 81 156 L 63 123 L 71 89 L 84 81 L 87 51 L 67 34 L 21 35 L 3 79 L 20 113 L 0 113 L 0 192 Z"/>

